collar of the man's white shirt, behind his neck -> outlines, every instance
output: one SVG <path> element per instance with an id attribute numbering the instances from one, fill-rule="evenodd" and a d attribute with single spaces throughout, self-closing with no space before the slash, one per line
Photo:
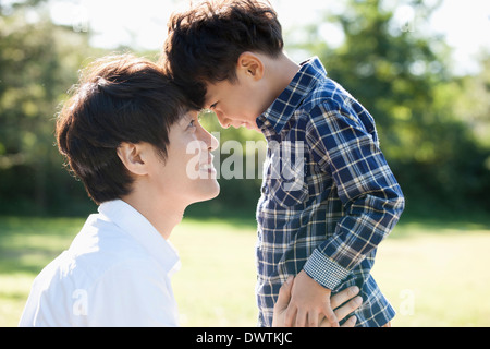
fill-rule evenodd
<path id="1" fill-rule="evenodd" d="M 181 267 L 175 248 L 133 206 L 122 200 L 102 203 L 99 213 L 130 234 L 163 266 L 170 277 Z"/>

